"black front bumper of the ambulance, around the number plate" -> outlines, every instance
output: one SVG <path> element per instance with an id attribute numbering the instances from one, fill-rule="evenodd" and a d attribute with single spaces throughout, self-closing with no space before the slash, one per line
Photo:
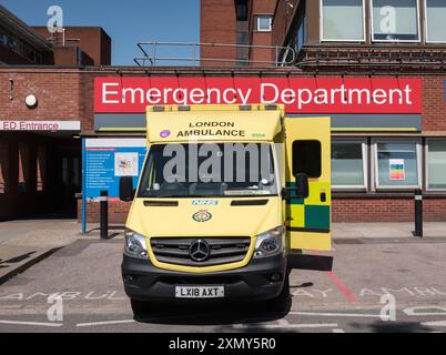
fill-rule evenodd
<path id="1" fill-rule="evenodd" d="M 204 301 L 201 298 L 175 298 L 175 286 L 219 285 L 225 287 L 224 298 L 207 298 L 207 301 L 251 302 L 271 300 L 281 293 L 286 278 L 286 260 L 283 255 L 253 258 L 244 267 L 193 274 L 159 268 L 150 260 L 139 260 L 124 255 L 121 271 L 126 295 L 138 301 Z M 273 274 L 280 274 L 280 281 L 273 282 L 271 280 Z"/>

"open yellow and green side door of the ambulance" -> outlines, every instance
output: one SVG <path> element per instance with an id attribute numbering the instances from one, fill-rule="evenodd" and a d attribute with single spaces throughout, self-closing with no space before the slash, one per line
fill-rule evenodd
<path id="1" fill-rule="evenodd" d="M 331 237 L 331 119 L 285 118 L 285 182 L 308 176 L 308 196 L 291 192 L 286 200 L 286 237 L 291 250 L 330 251 Z M 294 197 L 293 197 L 294 195 Z"/>

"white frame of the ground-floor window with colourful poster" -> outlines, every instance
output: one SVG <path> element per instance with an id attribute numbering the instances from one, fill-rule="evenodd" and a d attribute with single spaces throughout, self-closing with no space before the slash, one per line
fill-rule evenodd
<path id="1" fill-rule="evenodd" d="M 379 185 L 379 174 L 378 174 L 378 143 L 415 143 L 415 152 L 417 159 L 417 185 Z M 373 158 L 373 187 L 375 191 L 406 191 L 414 189 L 423 189 L 423 142 L 422 139 L 417 138 L 377 138 L 372 140 L 372 158 Z"/>

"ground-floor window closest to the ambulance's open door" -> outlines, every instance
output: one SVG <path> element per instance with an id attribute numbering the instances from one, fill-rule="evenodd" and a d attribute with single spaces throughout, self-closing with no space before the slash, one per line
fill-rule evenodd
<path id="1" fill-rule="evenodd" d="M 332 142 L 333 189 L 362 189 L 367 186 L 367 144 L 365 141 Z"/>

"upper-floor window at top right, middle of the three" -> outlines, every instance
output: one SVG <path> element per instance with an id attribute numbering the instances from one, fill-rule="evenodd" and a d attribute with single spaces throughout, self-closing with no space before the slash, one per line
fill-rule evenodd
<path id="1" fill-rule="evenodd" d="M 372 0 L 373 40 L 418 42 L 418 0 Z"/>

